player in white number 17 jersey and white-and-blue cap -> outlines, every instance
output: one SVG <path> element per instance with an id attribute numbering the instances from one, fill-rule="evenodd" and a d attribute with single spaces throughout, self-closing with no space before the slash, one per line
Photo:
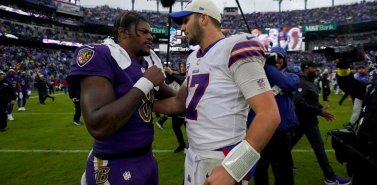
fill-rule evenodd
<path id="1" fill-rule="evenodd" d="M 176 97 L 158 100 L 153 111 L 186 111 L 189 148 L 185 185 L 234 185 L 259 159 L 278 127 L 280 116 L 266 74 L 257 37 L 225 38 L 212 0 L 193 0 L 171 14 L 182 24 L 189 45 L 199 45 L 186 63 L 187 77 Z M 246 133 L 248 107 L 256 112 Z"/>

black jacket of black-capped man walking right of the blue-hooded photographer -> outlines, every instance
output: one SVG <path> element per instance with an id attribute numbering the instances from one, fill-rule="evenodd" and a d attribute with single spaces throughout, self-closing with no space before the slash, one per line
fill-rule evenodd
<path id="1" fill-rule="evenodd" d="M 299 124 L 318 124 L 317 115 L 322 113 L 323 106 L 318 101 L 318 89 L 314 80 L 305 74 L 298 74 L 300 85 L 293 96 Z"/>

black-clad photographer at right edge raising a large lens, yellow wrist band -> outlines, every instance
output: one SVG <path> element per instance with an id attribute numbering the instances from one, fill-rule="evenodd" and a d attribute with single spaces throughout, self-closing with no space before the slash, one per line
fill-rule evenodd
<path id="1" fill-rule="evenodd" d="M 363 100 L 361 106 L 360 128 L 352 148 L 363 156 L 352 153 L 350 168 L 353 170 L 353 185 L 376 184 L 377 174 L 377 82 L 362 82 L 351 73 L 350 63 L 363 61 L 364 50 L 361 44 L 344 47 L 327 47 L 325 56 L 328 60 L 337 59 L 337 83 L 339 88 L 358 99 Z M 375 64 L 376 64 L 375 55 Z"/>

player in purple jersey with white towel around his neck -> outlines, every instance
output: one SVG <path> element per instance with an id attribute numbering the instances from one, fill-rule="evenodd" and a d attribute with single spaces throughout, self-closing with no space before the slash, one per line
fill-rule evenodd
<path id="1" fill-rule="evenodd" d="M 163 83 L 152 40 L 148 19 L 121 13 L 112 38 L 75 52 L 67 80 L 80 87 L 82 116 L 94 138 L 81 184 L 158 184 L 152 107 L 156 97 L 175 92 Z"/>

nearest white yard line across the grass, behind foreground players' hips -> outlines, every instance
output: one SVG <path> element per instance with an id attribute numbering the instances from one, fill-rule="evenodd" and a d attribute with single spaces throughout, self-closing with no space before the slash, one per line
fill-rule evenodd
<path id="1" fill-rule="evenodd" d="M 326 152 L 335 152 L 333 149 L 325 149 Z M 43 153 L 89 153 L 90 150 L 43 150 L 43 149 L 0 149 L 0 152 L 43 152 Z M 168 149 L 155 149 L 154 153 L 166 153 L 173 152 L 173 150 Z M 312 149 L 293 149 L 292 152 L 314 152 Z"/>

